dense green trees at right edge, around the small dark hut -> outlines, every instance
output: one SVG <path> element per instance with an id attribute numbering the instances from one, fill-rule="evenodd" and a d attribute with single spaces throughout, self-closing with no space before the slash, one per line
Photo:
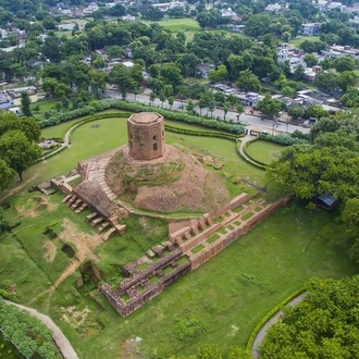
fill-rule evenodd
<path id="1" fill-rule="evenodd" d="M 296 197 L 309 201 L 330 194 L 338 201 L 339 235 L 333 240 L 359 261 L 359 124 L 357 114 L 339 113 L 322 117 L 310 132 L 311 145 L 286 148 L 268 168 L 269 185 L 277 184 Z"/>

